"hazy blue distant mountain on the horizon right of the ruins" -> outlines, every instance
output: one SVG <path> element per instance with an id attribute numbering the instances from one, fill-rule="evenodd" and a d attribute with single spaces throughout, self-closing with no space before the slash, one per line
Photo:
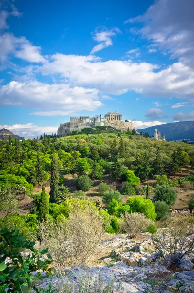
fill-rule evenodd
<path id="1" fill-rule="evenodd" d="M 172 122 L 145 129 L 137 129 L 137 131 L 148 132 L 152 136 L 155 129 L 161 132 L 161 136 L 166 135 L 166 140 L 190 139 L 194 141 L 194 121 Z"/>

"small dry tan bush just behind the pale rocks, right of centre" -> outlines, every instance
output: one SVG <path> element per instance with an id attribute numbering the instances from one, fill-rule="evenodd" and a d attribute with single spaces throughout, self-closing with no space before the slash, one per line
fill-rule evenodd
<path id="1" fill-rule="evenodd" d="M 125 212 L 125 214 L 121 215 L 121 218 L 123 220 L 121 228 L 128 234 L 129 238 L 134 238 L 144 232 L 151 224 L 151 220 L 138 212 Z"/>

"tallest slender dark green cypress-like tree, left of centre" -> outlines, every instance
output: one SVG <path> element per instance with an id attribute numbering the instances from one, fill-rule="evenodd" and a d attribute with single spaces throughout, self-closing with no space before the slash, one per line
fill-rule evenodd
<path id="1" fill-rule="evenodd" d="M 58 201 L 58 163 L 55 155 L 51 162 L 50 188 L 50 202 L 56 203 Z"/>

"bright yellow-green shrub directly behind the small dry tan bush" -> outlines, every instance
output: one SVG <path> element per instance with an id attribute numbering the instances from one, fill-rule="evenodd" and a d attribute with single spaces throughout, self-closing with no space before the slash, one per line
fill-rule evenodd
<path id="1" fill-rule="evenodd" d="M 144 199 L 141 196 L 129 197 L 127 205 L 131 207 L 132 212 L 143 213 L 147 218 L 155 221 L 155 206 L 150 199 Z"/>

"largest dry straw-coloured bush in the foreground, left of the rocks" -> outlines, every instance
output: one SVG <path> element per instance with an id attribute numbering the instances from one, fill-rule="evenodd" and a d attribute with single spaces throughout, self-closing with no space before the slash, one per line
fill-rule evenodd
<path id="1" fill-rule="evenodd" d="M 69 219 L 39 224 L 42 246 L 47 246 L 57 269 L 86 264 L 103 234 L 103 218 L 97 209 L 86 206 L 70 212 Z"/>

